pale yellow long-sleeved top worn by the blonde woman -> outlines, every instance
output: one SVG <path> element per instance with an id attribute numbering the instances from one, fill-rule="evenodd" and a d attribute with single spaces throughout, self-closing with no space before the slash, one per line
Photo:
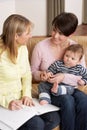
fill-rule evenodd
<path id="1" fill-rule="evenodd" d="M 0 105 L 8 108 L 13 99 L 23 96 L 31 98 L 31 78 L 27 47 L 19 47 L 16 64 L 4 51 L 0 56 Z"/>

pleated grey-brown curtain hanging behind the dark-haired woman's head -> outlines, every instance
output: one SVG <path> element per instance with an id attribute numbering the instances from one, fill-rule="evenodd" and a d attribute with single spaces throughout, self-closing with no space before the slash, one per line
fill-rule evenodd
<path id="1" fill-rule="evenodd" d="M 52 20 L 55 16 L 64 12 L 65 0 L 47 0 L 47 35 L 51 34 Z"/>

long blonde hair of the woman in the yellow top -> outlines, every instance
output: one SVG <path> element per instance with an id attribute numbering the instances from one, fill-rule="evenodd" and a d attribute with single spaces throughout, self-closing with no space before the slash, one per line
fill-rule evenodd
<path id="1" fill-rule="evenodd" d="M 4 22 L 3 32 L 1 34 L 0 42 L 2 43 L 0 48 L 2 47 L 2 52 L 7 49 L 8 56 L 13 63 L 16 62 L 18 49 L 15 45 L 15 34 L 22 35 L 22 33 L 29 27 L 29 31 L 33 28 L 33 23 L 19 14 L 10 15 Z"/>

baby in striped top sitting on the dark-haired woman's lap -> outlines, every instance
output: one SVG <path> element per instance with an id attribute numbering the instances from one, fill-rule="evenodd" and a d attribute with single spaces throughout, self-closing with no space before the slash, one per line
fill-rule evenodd
<path id="1" fill-rule="evenodd" d="M 73 94 L 76 86 L 69 85 L 68 81 L 67 84 L 65 84 L 62 83 L 59 78 L 59 81 L 57 80 L 54 84 L 49 82 L 49 79 L 53 78 L 58 73 L 59 77 L 61 76 L 60 73 L 70 73 L 79 76 L 80 78 L 78 78 L 77 81 L 79 85 L 85 85 L 87 83 L 87 70 L 80 65 L 83 54 L 83 47 L 80 44 L 70 45 L 65 51 L 63 61 L 55 61 L 49 66 L 48 70 L 45 72 L 47 82 L 41 82 L 39 84 L 40 104 L 51 103 L 50 94 L 55 96 Z"/>

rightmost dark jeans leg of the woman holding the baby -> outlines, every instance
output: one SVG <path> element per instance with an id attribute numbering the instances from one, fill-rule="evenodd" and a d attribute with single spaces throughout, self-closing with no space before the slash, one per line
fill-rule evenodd
<path id="1" fill-rule="evenodd" d="M 87 95 L 79 90 L 75 90 L 75 130 L 87 130 Z"/>

